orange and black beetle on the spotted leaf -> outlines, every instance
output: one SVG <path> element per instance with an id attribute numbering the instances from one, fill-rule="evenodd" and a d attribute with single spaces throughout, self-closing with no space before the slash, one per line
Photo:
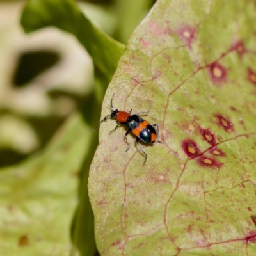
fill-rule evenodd
<path id="1" fill-rule="evenodd" d="M 134 136 L 136 136 L 136 144 L 140 148 L 139 151 L 141 151 L 145 156 L 145 161 L 144 161 L 145 163 L 147 161 L 147 154 L 143 150 L 143 148 L 141 148 L 139 141 L 141 140 L 144 143 L 154 143 L 155 141 L 158 141 L 159 143 L 163 143 L 162 141 L 157 140 L 158 134 L 159 134 L 158 125 L 150 124 L 140 116 L 141 113 L 143 113 L 144 115 L 147 115 L 150 111 L 151 106 L 147 111 L 142 111 L 136 115 L 135 114 L 131 115 L 132 109 L 128 113 L 128 112 L 119 111 L 118 109 L 113 108 L 113 104 L 112 104 L 113 97 L 114 95 L 112 96 L 112 99 L 111 99 L 111 107 L 110 107 L 111 114 L 108 116 L 105 116 L 99 122 L 99 124 L 95 127 L 95 130 L 97 129 L 97 127 L 99 127 L 100 124 L 102 124 L 102 122 L 105 122 L 109 118 L 115 118 L 118 124 L 116 125 L 115 129 L 113 129 L 109 133 L 116 131 L 116 129 L 121 125 L 125 125 L 128 128 L 128 131 L 125 132 L 125 135 L 124 135 L 124 139 L 129 145 L 127 150 L 129 150 L 130 148 L 130 143 L 129 141 L 127 141 L 127 135 L 131 132 L 132 134 L 134 134 Z"/>

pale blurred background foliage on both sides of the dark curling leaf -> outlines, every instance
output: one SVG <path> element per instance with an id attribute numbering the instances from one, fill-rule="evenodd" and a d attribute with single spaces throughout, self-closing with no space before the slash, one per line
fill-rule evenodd
<path id="1" fill-rule="evenodd" d="M 55 28 L 24 35 L 24 1 L 0 1 L 0 166 L 19 163 L 43 148 L 92 90 L 93 63 L 76 38 Z M 118 42 L 129 36 L 153 0 L 77 1 Z"/>

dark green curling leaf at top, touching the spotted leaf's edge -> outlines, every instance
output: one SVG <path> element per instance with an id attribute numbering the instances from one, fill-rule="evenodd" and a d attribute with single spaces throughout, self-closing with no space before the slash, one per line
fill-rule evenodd
<path id="1" fill-rule="evenodd" d="M 109 81 L 125 49 L 124 45 L 93 26 L 72 0 L 30 0 L 22 13 L 21 24 L 26 32 L 56 26 L 72 33 Z"/>

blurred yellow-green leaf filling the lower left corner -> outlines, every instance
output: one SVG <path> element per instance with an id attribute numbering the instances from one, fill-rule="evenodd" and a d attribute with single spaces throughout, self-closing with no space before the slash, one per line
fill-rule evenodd
<path id="1" fill-rule="evenodd" d="M 91 134 L 74 115 L 44 152 L 1 169 L 1 255 L 70 255 L 79 170 Z"/>

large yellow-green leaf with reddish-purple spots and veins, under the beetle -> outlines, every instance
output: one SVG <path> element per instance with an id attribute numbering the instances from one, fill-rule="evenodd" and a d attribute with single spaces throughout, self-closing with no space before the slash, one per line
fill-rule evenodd
<path id="1" fill-rule="evenodd" d="M 103 104 L 151 110 L 164 143 L 140 154 L 100 126 L 90 202 L 100 255 L 254 255 L 255 5 L 159 0 L 134 31 Z"/>

